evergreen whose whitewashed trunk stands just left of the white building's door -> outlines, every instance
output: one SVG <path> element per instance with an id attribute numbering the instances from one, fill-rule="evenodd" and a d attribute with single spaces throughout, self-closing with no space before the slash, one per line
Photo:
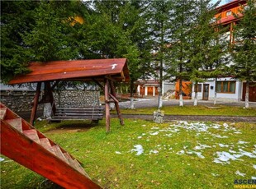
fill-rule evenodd
<path id="1" fill-rule="evenodd" d="M 220 58 L 225 53 L 219 37 L 221 30 L 219 25 L 213 22 L 217 4 L 212 5 L 211 0 L 200 0 L 197 4 L 196 21 L 192 26 L 192 39 L 190 40 L 191 59 L 188 61 L 188 67 L 192 71 L 191 80 L 195 84 L 195 106 L 197 106 L 198 82 L 220 74 Z"/>

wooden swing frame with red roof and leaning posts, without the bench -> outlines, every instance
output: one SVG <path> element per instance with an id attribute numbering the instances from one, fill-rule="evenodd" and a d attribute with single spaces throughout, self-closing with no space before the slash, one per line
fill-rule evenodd
<path id="1" fill-rule="evenodd" d="M 74 61 L 32 62 L 28 69 L 31 71 L 26 75 L 16 76 L 9 84 L 37 83 L 36 95 L 34 97 L 31 111 L 31 124 L 36 118 L 36 109 L 39 102 L 40 88 L 45 83 L 44 103 L 51 103 L 55 113 L 53 90 L 59 81 L 94 81 L 105 94 L 106 127 L 110 131 L 110 102 L 114 102 L 116 113 L 121 125 L 119 102 L 116 99 L 114 81 L 129 81 L 129 71 L 126 58 L 93 59 Z M 112 99 L 112 100 L 111 100 Z"/>

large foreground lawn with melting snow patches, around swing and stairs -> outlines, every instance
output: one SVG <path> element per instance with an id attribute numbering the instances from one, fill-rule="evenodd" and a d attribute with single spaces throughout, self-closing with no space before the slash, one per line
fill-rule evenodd
<path id="1" fill-rule="evenodd" d="M 121 127 L 111 119 L 110 133 L 102 121 L 88 131 L 45 135 L 83 162 L 103 188 L 233 188 L 235 179 L 256 179 L 255 123 L 125 122 Z M 45 178 L 1 157 L 1 188 L 40 188 Z"/>

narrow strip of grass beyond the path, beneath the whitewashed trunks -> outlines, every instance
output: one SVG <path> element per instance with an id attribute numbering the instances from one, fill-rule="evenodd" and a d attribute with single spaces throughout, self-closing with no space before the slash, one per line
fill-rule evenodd
<path id="1" fill-rule="evenodd" d="M 121 109 L 121 113 L 128 114 L 153 114 L 156 108 L 135 108 L 135 109 Z M 225 115 L 225 116 L 256 116 L 256 108 L 242 108 L 217 105 L 212 107 L 206 106 L 168 106 L 161 108 L 165 114 L 168 115 Z M 114 110 L 111 111 L 115 113 Z"/>

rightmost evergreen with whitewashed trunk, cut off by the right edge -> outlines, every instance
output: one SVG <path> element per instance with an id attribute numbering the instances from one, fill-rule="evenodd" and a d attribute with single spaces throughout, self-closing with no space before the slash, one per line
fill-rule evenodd
<path id="1" fill-rule="evenodd" d="M 231 65 L 235 78 L 246 81 L 245 108 L 249 108 L 249 83 L 256 81 L 256 6 L 249 0 L 247 6 L 240 10 L 237 17 L 240 21 L 235 25 L 235 43 L 231 44 Z"/>

